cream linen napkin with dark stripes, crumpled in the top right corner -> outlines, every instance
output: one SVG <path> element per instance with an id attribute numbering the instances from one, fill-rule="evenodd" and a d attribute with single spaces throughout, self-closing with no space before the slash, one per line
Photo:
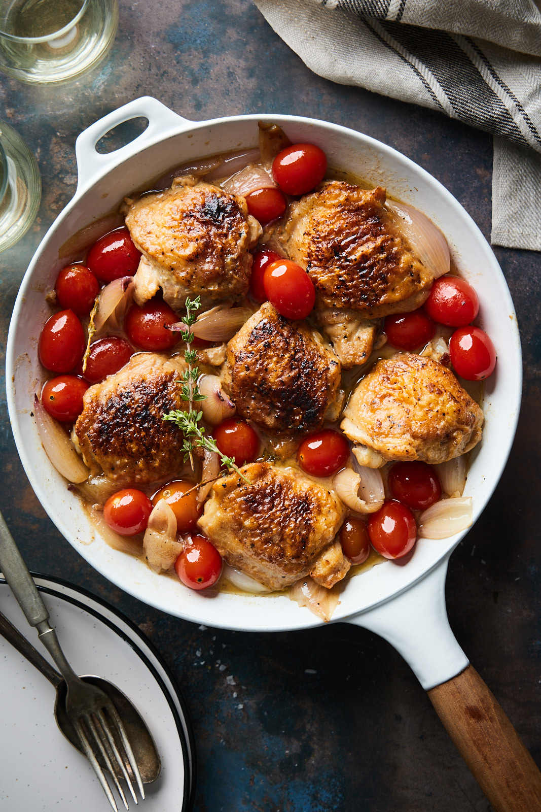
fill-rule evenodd
<path id="1" fill-rule="evenodd" d="M 320 76 L 491 132 L 492 244 L 541 251 L 541 11 L 533 0 L 255 5 Z"/>

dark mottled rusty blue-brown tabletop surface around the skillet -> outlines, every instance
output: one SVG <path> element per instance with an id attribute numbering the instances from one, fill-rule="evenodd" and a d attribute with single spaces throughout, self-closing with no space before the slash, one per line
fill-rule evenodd
<path id="1" fill-rule="evenodd" d="M 157 97 L 187 119 L 291 113 L 366 132 L 435 175 L 488 237 L 492 141 L 483 132 L 314 76 L 248 0 L 120 6 L 114 48 L 84 80 L 36 89 L 0 77 L 0 117 L 28 141 L 43 178 L 32 230 L 0 255 L 2 367 L 24 270 L 75 192 L 76 136 L 140 95 Z M 447 598 L 458 641 L 540 762 L 541 256 L 495 250 L 522 331 L 522 416 L 496 494 L 453 554 Z M 11 438 L 3 387 L 0 421 L 0 508 L 29 566 L 120 607 L 173 668 L 195 728 L 195 810 L 490 810 L 425 693 L 387 643 L 346 624 L 270 635 L 201 630 L 122 594 L 75 554 L 37 502 Z"/>

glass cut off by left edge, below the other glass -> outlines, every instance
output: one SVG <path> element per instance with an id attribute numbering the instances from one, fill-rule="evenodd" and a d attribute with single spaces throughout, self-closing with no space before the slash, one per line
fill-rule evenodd
<path id="1" fill-rule="evenodd" d="M 40 201 L 36 158 L 19 133 L 0 121 L 0 251 L 26 234 Z"/>

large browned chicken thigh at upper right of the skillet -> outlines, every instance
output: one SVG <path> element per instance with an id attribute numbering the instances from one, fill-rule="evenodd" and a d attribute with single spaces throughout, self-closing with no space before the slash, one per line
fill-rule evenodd
<path id="1" fill-rule="evenodd" d="M 367 360 L 380 330 L 375 320 L 420 307 L 434 279 L 401 235 L 385 197 L 380 187 L 327 181 L 291 206 L 275 237 L 307 270 L 316 287 L 316 319 L 346 367 Z"/>

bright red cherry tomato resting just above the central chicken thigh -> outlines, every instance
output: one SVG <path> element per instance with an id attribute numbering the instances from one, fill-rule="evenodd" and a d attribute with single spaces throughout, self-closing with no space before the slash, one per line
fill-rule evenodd
<path id="1" fill-rule="evenodd" d="M 287 259 L 265 268 L 263 287 L 269 302 L 286 318 L 306 318 L 316 303 L 316 288 L 306 270 Z"/>

